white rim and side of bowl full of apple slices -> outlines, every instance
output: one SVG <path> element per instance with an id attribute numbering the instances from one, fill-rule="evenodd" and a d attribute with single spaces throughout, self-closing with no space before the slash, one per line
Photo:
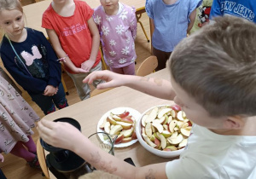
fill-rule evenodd
<path id="1" fill-rule="evenodd" d="M 156 107 L 166 107 L 169 105 L 160 105 L 160 106 L 156 106 Z M 136 125 L 136 134 L 137 134 L 137 139 L 138 141 L 141 143 L 141 145 L 148 150 L 148 152 L 150 153 L 154 153 L 157 156 L 163 157 L 163 158 L 173 158 L 173 157 L 177 157 L 179 156 L 184 148 L 178 149 L 177 151 L 160 151 L 158 149 L 155 149 L 154 147 L 151 147 L 148 145 L 148 143 L 146 141 L 143 140 L 143 136 L 142 136 L 142 118 L 143 116 L 148 113 L 149 111 L 151 111 L 154 107 L 149 108 L 147 111 L 145 111 L 141 118 L 139 118 L 139 120 L 137 121 L 137 125 Z"/>

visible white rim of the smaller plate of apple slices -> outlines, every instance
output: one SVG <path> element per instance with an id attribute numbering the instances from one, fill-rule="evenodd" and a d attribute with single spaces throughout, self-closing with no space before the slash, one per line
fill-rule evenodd
<path id="1" fill-rule="evenodd" d="M 136 121 L 141 117 L 141 113 L 139 113 L 137 110 L 131 108 L 131 107 L 117 107 L 114 109 L 109 110 L 107 113 L 104 113 L 104 115 L 102 116 L 102 118 L 99 120 L 98 124 L 97 124 L 97 132 L 104 132 L 104 130 L 100 129 L 100 125 L 103 123 L 104 119 L 108 117 L 108 115 L 113 111 L 113 110 L 123 110 L 125 109 L 125 111 L 129 112 L 131 114 L 131 116 L 133 116 L 133 118 L 136 119 Z M 135 130 L 136 126 L 134 126 L 134 130 Z M 103 138 L 101 138 L 102 141 L 104 141 Z M 136 143 L 136 140 L 132 140 L 126 143 L 119 143 L 119 144 L 114 144 L 113 147 L 128 147 L 131 146 L 132 144 Z"/>

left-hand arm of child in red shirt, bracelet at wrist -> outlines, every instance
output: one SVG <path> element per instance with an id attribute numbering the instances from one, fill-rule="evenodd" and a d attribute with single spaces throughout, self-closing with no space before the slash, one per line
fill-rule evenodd
<path id="1" fill-rule="evenodd" d="M 53 48 L 55 49 L 55 53 L 59 56 L 59 58 L 65 58 L 65 61 L 63 61 L 64 65 L 67 66 L 72 72 L 87 72 L 84 71 L 82 68 L 78 68 L 77 66 L 73 65 L 73 62 L 70 60 L 70 58 L 68 56 L 66 56 L 66 52 L 62 49 L 61 47 L 61 43 L 60 40 L 57 36 L 57 34 L 55 33 L 55 30 L 53 29 L 46 29 L 46 32 L 48 34 L 49 40 L 53 45 Z"/>

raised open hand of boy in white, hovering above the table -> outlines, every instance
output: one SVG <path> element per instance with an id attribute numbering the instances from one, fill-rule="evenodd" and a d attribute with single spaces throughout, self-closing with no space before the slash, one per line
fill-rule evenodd
<path id="1" fill-rule="evenodd" d="M 91 72 L 86 78 L 84 78 L 83 83 L 92 84 L 94 80 L 102 79 L 106 81 L 106 83 L 97 85 L 97 89 L 101 90 L 101 89 L 113 88 L 113 87 L 124 85 L 124 82 L 125 82 L 124 78 L 125 78 L 125 75 L 104 70 L 104 71 Z"/>

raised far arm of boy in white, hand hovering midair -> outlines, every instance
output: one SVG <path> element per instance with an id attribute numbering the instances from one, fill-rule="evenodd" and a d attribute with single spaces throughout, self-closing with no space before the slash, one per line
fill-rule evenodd
<path id="1" fill-rule="evenodd" d="M 97 89 L 127 86 L 161 99 L 173 100 L 175 97 L 175 92 L 172 90 L 172 84 L 169 81 L 160 78 L 121 75 L 105 70 L 90 73 L 90 75 L 84 78 L 83 82 L 92 84 L 96 79 L 106 81 L 106 83 L 98 84 Z"/>

